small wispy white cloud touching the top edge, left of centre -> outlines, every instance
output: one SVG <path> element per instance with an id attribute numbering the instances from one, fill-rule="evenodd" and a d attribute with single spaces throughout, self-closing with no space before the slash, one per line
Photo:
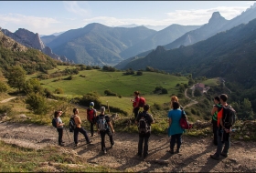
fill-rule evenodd
<path id="1" fill-rule="evenodd" d="M 63 4 L 66 10 L 76 15 L 86 16 L 90 14 L 90 10 L 80 7 L 81 5 L 87 5 L 86 2 L 80 2 L 79 5 L 77 1 L 64 1 Z"/>

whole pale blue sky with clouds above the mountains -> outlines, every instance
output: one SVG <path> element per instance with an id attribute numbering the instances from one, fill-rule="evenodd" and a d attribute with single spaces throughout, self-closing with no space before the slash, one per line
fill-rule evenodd
<path id="1" fill-rule="evenodd" d="M 0 1 L 0 27 L 39 35 L 91 23 L 119 25 L 204 25 L 213 12 L 230 20 L 256 1 Z"/>

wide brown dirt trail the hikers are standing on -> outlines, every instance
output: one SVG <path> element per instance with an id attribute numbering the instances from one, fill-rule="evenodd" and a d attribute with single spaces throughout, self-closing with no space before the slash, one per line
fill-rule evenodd
<path id="1" fill-rule="evenodd" d="M 79 135 L 80 146 L 74 147 L 73 134 L 67 136 L 64 131 L 65 147 L 75 150 L 87 162 L 121 171 L 166 172 L 255 172 L 256 142 L 231 140 L 228 158 L 219 161 L 209 158 L 216 147 L 209 137 L 183 137 L 183 144 L 179 154 L 171 155 L 166 152 L 169 148 L 165 135 L 152 135 L 149 141 L 149 156 L 145 159 L 136 156 L 138 134 L 116 133 L 115 145 L 111 148 L 109 138 L 106 137 L 108 153 L 101 153 L 100 136 L 91 137 L 92 145 L 86 145 L 84 138 Z M 26 148 L 44 148 L 57 145 L 58 133 L 54 127 L 36 126 L 32 124 L 0 123 L 0 139 L 7 143 Z M 70 138 L 70 141 L 69 141 Z"/>

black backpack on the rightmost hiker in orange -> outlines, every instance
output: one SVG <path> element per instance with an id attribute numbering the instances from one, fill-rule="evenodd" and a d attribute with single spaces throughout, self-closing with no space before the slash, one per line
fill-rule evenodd
<path id="1" fill-rule="evenodd" d="M 223 125 L 224 127 L 231 127 L 236 122 L 236 111 L 233 107 L 223 107 Z"/>

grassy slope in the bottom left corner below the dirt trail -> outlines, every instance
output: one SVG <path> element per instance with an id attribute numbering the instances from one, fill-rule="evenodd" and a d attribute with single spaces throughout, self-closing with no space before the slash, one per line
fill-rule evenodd
<path id="1" fill-rule="evenodd" d="M 2 172 L 117 172 L 85 163 L 80 156 L 59 147 L 35 150 L 3 141 L 0 141 L 0 169 Z"/>

